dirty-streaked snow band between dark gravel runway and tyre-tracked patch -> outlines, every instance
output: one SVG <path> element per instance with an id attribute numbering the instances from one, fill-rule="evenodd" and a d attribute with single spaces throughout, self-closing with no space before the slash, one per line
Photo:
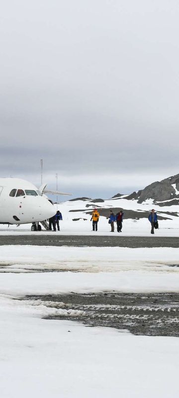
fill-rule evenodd
<path id="1" fill-rule="evenodd" d="M 0 292 L 179 292 L 178 263 L 177 248 L 0 246 Z"/>

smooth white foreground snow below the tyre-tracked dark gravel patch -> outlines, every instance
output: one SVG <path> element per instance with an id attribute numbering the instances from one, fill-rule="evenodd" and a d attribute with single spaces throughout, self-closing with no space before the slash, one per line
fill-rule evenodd
<path id="1" fill-rule="evenodd" d="M 177 338 L 44 320 L 8 301 L 0 319 L 2 398 L 178 397 Z"/>

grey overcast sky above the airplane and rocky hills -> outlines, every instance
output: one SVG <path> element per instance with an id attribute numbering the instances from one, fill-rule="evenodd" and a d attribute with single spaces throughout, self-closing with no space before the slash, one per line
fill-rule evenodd
<path id="1" fill-rule="evenodd" d="M 177 0 L 6 0 L 0 176 L 109 198 L 179 173 Z"/>

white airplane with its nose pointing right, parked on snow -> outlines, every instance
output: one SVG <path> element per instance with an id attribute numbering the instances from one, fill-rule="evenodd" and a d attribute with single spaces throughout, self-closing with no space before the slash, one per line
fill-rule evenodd
<path id="1" fill-rule="evenodd" d="M 32 223 L 32 231 L 41 231 L 39 222 L 45 226 L 45 220 L 56 214 L 53 202 L 44 195 L 49 192 L 45 188 L 46 184 L 38 189 L 26 180 L 0 178 L 0 224 L 18 226 Z M 49 193 L 72 195 L 54 191 Z"/>

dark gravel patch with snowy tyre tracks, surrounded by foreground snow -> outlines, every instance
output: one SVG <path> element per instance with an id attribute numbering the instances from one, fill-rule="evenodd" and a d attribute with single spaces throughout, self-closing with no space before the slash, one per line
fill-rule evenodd
<path id="1" fill-rule="evenodd" d="M 48 307 L 69 311 L 66 316 L 51 316 L 47 319 L 73 319 L 88 326 L 127 329 L 138 335 L 179 337 L 178 293 L 71 293 L 28 298 L 41 299 Z M 71 316 L 71 310 L 77 311 L 77 315 Z"/>

